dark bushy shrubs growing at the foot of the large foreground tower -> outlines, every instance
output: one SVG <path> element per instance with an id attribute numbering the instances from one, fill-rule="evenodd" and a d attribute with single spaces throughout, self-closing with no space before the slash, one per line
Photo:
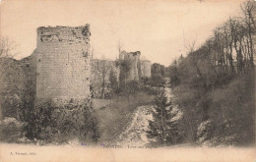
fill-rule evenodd
<path id="1" fill-rule="evenodd" d="M 53 107 L 51 101 L 43 102 L 34 106 L 28 123 L 27 136 L 46 143 L 99 137 L 93 109 L 86 104 Z"/>

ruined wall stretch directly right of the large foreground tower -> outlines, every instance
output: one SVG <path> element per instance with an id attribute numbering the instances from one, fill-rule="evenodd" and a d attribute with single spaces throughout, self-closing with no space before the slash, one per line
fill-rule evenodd
<path id="1" fill-rule="evenodd" d="M 110 92 L 110 73 L 116 77 L 116 81 L 119 80 L 119 68 L 116 67 L 114 61 L 110 60 L 100 60 L 92 59 L 91 60 L 91 93 L 94 98 L 104 98 Z M 103 81 L 104 80 L 104 81 Z M 102 83 L 104 85 L 102 86 Z M 101 90 L 104 87 L 103 94 Z"/>

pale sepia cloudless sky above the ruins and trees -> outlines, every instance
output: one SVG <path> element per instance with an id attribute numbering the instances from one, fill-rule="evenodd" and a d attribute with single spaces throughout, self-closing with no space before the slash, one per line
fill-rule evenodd
<path id="1" fill-rule="evenodd" d="M 91 25 L 94 58 L 114 60 L 118 44 L 168 66 L 187 42 L 200 46 L 215 27 L 239 15 L 242 0 L 3 0 L 0 34 L 15 41 L 17 59 L 36 48 L 36 28 Z"/>

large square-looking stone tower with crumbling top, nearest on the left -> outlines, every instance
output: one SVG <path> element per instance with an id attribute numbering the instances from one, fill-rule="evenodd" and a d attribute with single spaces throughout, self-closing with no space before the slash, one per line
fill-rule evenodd
<path id="1" fill-rule="evenodd" d="M 36 97 L 56 103 L 90 96 L 90 26 L 38 27 Z"/>

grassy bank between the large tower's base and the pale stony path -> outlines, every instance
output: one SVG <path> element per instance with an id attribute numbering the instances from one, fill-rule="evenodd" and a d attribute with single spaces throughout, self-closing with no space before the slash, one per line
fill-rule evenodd
<path id="1" fill-rule="evenodd" d="M 96 110 L 99 121 L 99 142 L 111 143 L 129 126 L 138 106 L 151 104 L 154 96 L 140 92 L 131 96 L 114 99 L 108 106 Z"/>

